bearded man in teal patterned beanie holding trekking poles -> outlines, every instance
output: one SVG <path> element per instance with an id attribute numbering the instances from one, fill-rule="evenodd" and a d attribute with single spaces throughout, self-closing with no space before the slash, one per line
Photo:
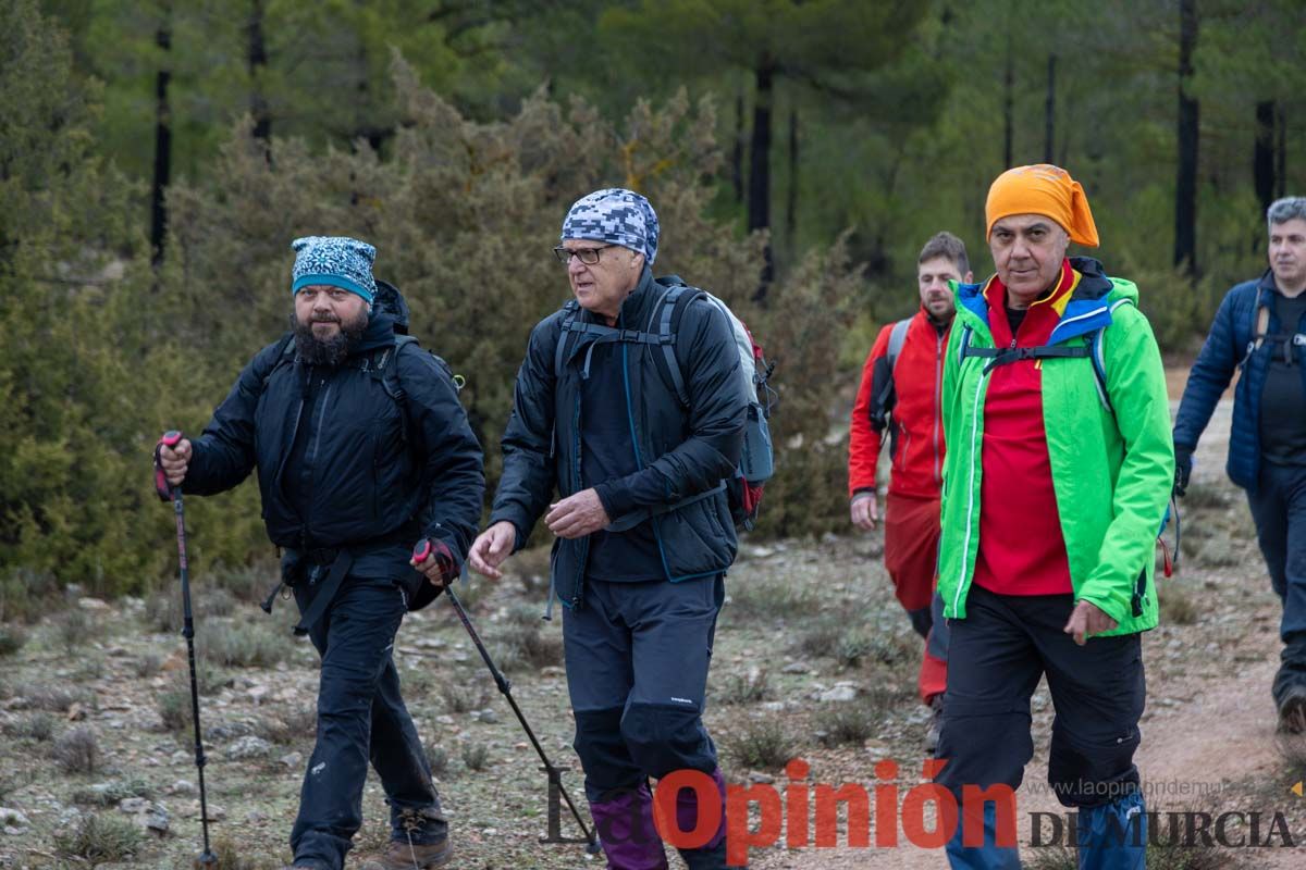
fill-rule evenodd
<path id="1" fill-rule="evenodd" d="M 448 823 L 392 651 L 404 614 L 458 575 L 481 518 L 481 445 L 443 363 L 400 342 L 396 317 L 374 308 L 376 249 L 338 236 L 293 248 L 291 333 L 244 368 L 201 437 L 161 446 L 159 460 L 196 496 L 257 470 L 296 633 L 321 655 L 294 870 L 342 870 L 368 762 L 390 805 L 390 845 L 363 866 L 438 867 L 452 857 Z M 414 570 L 423 537 L 436 557 Z"/>

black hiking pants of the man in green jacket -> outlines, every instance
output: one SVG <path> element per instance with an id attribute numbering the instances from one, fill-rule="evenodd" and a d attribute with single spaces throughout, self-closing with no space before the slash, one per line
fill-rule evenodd
<path id="1" fill-rule="evenodd" d="M 948 691 L 938 781 L 1019 788 L 1033 758 L 1029 698 L 1047 676 L 1053 720 L 1047 783 L 1063 806 L 1092 807 L 1138 789 L 1145 683 L 1138 634 L 1089 638 L 1062 631 L 1070 595 L 995 595 L 972 586 L 966 618 L 949 620 Z"/>

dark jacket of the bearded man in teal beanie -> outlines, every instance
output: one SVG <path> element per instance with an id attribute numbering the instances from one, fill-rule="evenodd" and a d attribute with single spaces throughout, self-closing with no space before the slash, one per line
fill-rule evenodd
<path id="1" fill-rule="evenodd" d="M 388 361 L 402 403 L 364 370 L 374 351 L 393 346 L 393 318 L 375 314 L 337 368 L 287 360 L 279 342 L 263 348 L 195 440 L 185 492 L 231 489 L 257 467 L 263 518 L 277 547 L 366 550 L 377 540 L 393 548 L 398 536 L 411 537 L 407 550 L 427 536 L 461 560 L 481 518 L 481 445 L 448 372 L 422 348 L 404 344 Z M 308 450 L 310 464 L 291 467 Z M 304 492 L 311 497 L 295 497 Z M 398 561 L 407 571 L 406 557 Z"/>

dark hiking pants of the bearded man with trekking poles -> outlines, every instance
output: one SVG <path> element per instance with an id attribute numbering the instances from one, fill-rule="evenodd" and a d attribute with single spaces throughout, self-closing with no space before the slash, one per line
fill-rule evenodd
<path id="1" fill-rule="evenodd" d="M 323 665 L 317 743 L 290 833 L 296 866 L 343 867 L 345 853 L 363 823 L 368 762 L 390 805 L 392 837 L 406 843 L 411 835 L 414 844 L 431 844 L 448 833 L 392 657 L 394 634 L 406 612 L 398 583 L 350 575 L 310 629 Z M 421 824 L 406 830 L 402 815 L 414 814 Z"/>

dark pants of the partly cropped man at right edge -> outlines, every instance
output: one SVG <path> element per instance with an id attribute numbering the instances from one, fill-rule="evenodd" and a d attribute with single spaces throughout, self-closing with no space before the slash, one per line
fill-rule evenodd
<path id="1" fill-rule="evenodd" d="M 1256 493 L 1247 493 L 1256 540 L 1269 583 L 1284 603 L 1279 637 L 1284 642 L 1275 674 L 1275 704 L 1290 689 L 1306 687 L 1306 466 L 1260 463 Z"/>

